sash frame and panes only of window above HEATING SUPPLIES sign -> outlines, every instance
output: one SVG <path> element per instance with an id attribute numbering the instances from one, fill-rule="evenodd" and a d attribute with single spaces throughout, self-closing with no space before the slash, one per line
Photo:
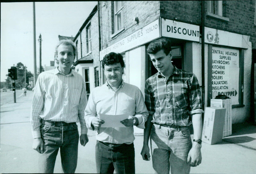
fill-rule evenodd
<path id="1" fill-rule="evenodd" d="M 115 32 L 123 28 L 123 1 L 115 1 Z"/>

